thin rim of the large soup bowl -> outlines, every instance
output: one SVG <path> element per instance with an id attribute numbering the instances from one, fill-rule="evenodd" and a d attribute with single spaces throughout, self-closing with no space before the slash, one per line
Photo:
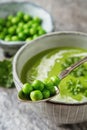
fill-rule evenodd
<path id="1" fill-rule="evenodd" d="M 15 79 L 15 81 L 16 81 L 16 83 L 18 84 L 18 85 L 20 85 L 21 87 L 22 87 L 22 82 L 20 81 L 20 79 L 19 79 L 19 77 L 18 77 L 18 75 L 17 75 L 17 70 L 16 70 L 16 66 L 17 66 L 17 60 L 18 60 L 18 58 L 19 58 L 19 56 L 21 55 L 21 53 L 22 53 L 22 51 L 28 46 L 28 44 L 33 44 L 35 41 L 38 41 L 38 40 L 40 40 L 40 39 L 43 39 L 43 38 L 45 38 L 45 37 L 49 37 L 49 36 L 55 36 L 55 35 L 77 35 L 77 36 L 83 36 L 83 37 L 87 37 L 87 34 L 86 33 L 84 33 L 84 32 L 77 32 L 77 31 L 59 31 L 59 32 L 51 32 L 51 33 L 49 33 L 49 34 L 45 34 L 45 35 L 43 35 L 43 36 L 40 36 L 40 37 L 38 37 L 37 39 L 35 39 L 35 40 L 33 40 L 33 41 L 31 41 L 31 42 L 28 42 L 27 44 L 25 44 L 24 46 L 22 46 L 18 51 L 17 51 L 17 53 L 15 54 L 15 56 L 14 56 L 14 59 L 13 59 L 13 62 L 12 62 L 12 64 L 13 64 L 13 77 L 14 77 L 14 79 Z M 20 88 L 21 88 L 20 87 Z M 55 104 L 55 105 L 59 105 L 59 104 L 61 104 L 61 105 L 70 105 L 70 106 L 75 106 L 75 105 L 87 105 L 87 101 L 85 101 L 85 102 L 77 102 L 77 103 L 67 103 L 67 102 L 58 102 L 58 101 L 52 101 L 52 100 L 50 100 L 50 101 L 46 101 L 47 103 L 51 103 L 51 104 Z"/>

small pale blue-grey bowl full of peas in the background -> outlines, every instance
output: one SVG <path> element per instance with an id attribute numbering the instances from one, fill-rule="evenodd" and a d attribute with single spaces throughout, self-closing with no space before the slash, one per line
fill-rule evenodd
<path id="1" fill-rule="evenodd" d="M 30 2 L 0 4 L 0 47 L 7 56 L 53 30 L 52 16 L 38 5 Z"/>

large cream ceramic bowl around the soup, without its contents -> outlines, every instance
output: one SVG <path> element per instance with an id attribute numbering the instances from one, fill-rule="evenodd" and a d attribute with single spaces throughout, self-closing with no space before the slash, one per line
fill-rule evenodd
<path id="1" fill-rule="evenodd" d="M 80 32 L 55 32 L 24 45 L 13 60 L 13 78 L 17 90 L 19 91 L 22 87 L 21 70 L 31 57 L 49 48 L 67 46 L 87 49 L 87 35 Z M 87 102 L 62 103 L 51 101 L 31 103 L 30 105 L 38 116 L 46 118 L 48 122 L 55 125 L 87 121 Z"/>

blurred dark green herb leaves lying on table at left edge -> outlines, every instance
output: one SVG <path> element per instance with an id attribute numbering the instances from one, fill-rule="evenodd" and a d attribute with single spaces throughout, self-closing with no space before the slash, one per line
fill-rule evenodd
<path id="1" fill-rule="evenodd" d="M 0 61 L 0 86 L 10 88 L 14 86 L 12 75 L 12 60 Z"/>

